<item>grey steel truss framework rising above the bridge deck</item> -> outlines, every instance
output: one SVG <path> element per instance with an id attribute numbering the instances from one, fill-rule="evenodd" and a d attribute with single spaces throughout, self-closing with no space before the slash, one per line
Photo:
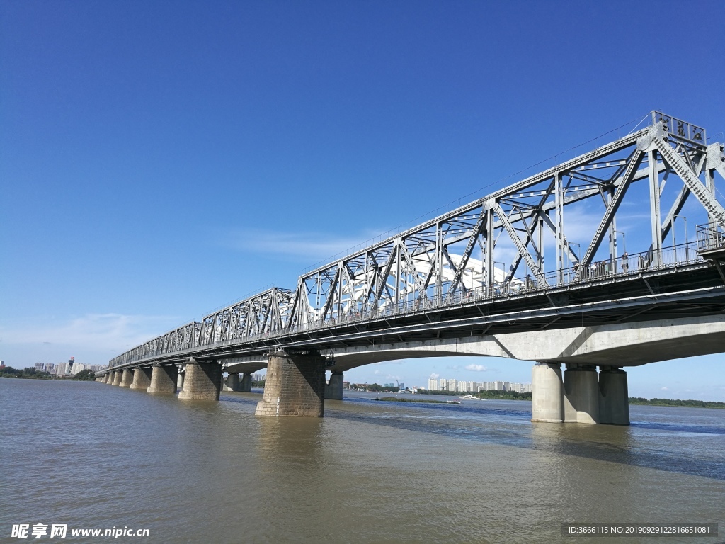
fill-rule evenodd
<path id="1" fill-rule="evenodd" d="M 629 189 L 645 179 L 650 181 L 653 244 L 638 266 L 656 267 L 662 240 L 691 194 L 716 229 L 725 229 L 725 210 L 713 181 L 716 171 L 725 176 L 723 145 L 707 146 L 706 141 L 703 128 L 653 112 L 647 128 L 305 273 L 297 289 L 268 289 L 187 323 L 128 350 L 111 366 L 341 322 L 394 319 L 428 308 L 435 313 L 468 297 L 545 292 L 586 281 L 595 260 L 598 265 L 608 261 L 613 270 L 626 266 L 626 271 L 626 257 L 617 255 L 616 215 Z M 660 221 L 660 197 L 674 178 L 682 188 Z M 603 202 L 603 210 L 599 218 L 589 210 L 595 233 L 586 244 L 575 244 L 580 234 L 567 230 L 566 210 L 583 202 Z M 602 260 L 600 247 L 607 236 L 608 255 Z M 550 273 L 544 272 L 546 237 L 555 245 Z M 583 246 L 584 255 L 574 245 Z M 674 262 L 677 258 L 675 248 Z"/>

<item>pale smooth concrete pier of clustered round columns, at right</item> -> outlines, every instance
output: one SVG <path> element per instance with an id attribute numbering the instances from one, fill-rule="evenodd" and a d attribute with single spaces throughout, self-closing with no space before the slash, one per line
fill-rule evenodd
<path id="1" fill-rule="evenodd" d="M 531 421 L 629 425 L 627 374 L 616 366 L 539 363 L 532 373 Z"/>

